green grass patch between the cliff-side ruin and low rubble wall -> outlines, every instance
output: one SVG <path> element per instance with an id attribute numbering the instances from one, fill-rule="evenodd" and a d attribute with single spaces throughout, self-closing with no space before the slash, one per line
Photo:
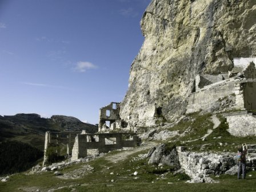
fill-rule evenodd
<path id="1" fill-rule="evenodd" d="M 211 114 L 193 113 L 188 115 L 189 121 L 179 122 L 178 125 L 171 127 L 169 130 L 187 130 L 190 127 L 190 133 L 184 137 L 180 137 L 177 140 L 169 139 L 172 145 L 185 146 L 190 151 L 211 151 L 211 152 L 223 152 L 223 151 L 237 151 L 237 146 L 241 143 L 253 144 L 255 143 L 255 137 L 235 137 L 230 135 L 227 131 L 229 125 L 226 119 L 221 114 L 217 115 L 221 124 L 213 130 L 213 132 L 206 137 L 205 141 L 198 139 L 203 137 L 207 133 L 208 129 L 213 129 L 213 123 L 211 122 Z M 193 141 L 198 139 L 197 141 Z M 187 142 L 191 141 L 191 142 Z"/>

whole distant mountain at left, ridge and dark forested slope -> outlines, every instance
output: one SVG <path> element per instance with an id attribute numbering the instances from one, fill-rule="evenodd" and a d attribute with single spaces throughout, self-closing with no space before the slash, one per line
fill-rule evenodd
<path id="1" fill-rule="evenodd" d="M 82 131 L 95 133 L 98 127 L 74 117 L 17 114 L 0 117 L 0 175 L 30 169 L 43 157 L 46 131 Z"/>

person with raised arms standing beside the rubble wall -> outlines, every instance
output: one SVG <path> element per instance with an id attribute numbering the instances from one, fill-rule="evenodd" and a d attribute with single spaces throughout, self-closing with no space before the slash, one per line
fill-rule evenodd
<path id="1" fill-rule="evenodd" d="M 247 146 L 243 143 L 242 146 L 238 146 L 237 161 L 238 161 L 238 174 L 237 178 L 240 179 L 242 173 L 242 179 L 246 176 L 246 154 Z"/>

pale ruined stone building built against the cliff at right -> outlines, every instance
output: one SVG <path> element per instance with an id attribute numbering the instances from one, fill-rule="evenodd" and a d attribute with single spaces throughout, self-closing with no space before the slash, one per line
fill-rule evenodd
<path id="1" fill-rule="evenodd" d="M 256 135 L 256 58 L 235 58 L 229 73 L 197 75 L 195 92 L 188 98 L 186 113 L 235 111 L 224 116 L 229 133 L 238 137 Z"/>

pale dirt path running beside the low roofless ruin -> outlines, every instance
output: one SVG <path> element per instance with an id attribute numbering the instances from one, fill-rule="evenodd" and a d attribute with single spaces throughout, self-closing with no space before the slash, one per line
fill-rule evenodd
<path id="1" fill-rule="evenodd" d="M 138 151 L 150 149 L 151 147 L 154 147 L 157 145 L 158 145 L 158 143 L 154 142 L 154 141 L 145 142 L 145 143 L 143 143 L 142 146 L 134 147 L 134 148 L 130 148 L 128 150 L 121 151 L 121 153 L 107 156 L 107 157 L 105 157 L 105 159 L 107 161 L 111 161 L 111 162 L 115 163 L 115 162 L 122 161 L 122 160 L 126 159 L 131 154 L 137 153 Z"/>

